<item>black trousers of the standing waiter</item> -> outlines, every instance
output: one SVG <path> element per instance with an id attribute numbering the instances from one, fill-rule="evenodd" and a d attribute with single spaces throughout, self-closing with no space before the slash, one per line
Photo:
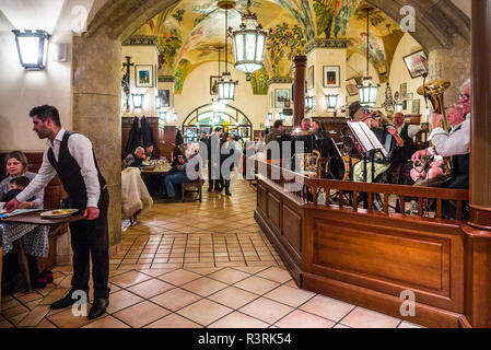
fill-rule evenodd
<path id="1" fill-rule="evenodd" d="M 73 290 L 82 290 L 89 294 L 90 259 L 92 257 L 92 279 L 94 281 L 94 299 L 109 298 L 109 232 L 107 226 L 107 207 L 109 194 L 101 191 L 97 207 L 100 215 L 89 221 L 71 222 L 71 247 L 73 249 Z"/>

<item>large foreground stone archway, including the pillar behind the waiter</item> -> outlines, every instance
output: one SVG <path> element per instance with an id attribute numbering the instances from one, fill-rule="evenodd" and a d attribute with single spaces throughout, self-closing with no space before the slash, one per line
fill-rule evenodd
<path id="1" fill-rule="evenodd" d="M 73 39 L 73 129 L 93 141 L 108 183 L 112 246 L 121 241 L 121 43 L 149 19 L 178 1 L 108 0 L 89 24 L 89 32 Z M 456 65 L 470 67 L 470 21 L 449 0 L 367 1 L 396 21 L 404 5 L 414 7 L 419 27 L 413 36 L 429 51 L 434 75 L 444 74 L 437 72 L 444 63 L 454 74 L 466 71 L 456 70 Z M 456 57 L 460 58 L 455 60 Z M 464 77 L 457 78 L 463 80 Z"/>

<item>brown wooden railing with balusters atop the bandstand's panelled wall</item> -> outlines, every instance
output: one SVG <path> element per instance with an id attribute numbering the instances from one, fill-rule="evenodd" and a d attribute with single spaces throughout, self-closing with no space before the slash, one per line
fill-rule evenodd
<path id="1" fill-rule="evenodd" d="M 258 173 L 289 191 L 304 205 L 352 208 L 356 212 L 367 210 L 389 214 L 396 212 L 390 201 L 394 203 L 398 201 L 399 212 L 406 214 L 406 202 L 411 200 L 418 203 L 418 213 L 411 212 L 408 215 L 424 217 L 431 213 L 434 218 L 442 219 L 443 208 L 446 205 L 451 206 L 449 208 L 455 206 L 455 209 L 452 209 L 452 214 L 445 219 L 461 221 L 465 218 L 465 203 L 469 200 L 469 191 L 466 189 L 316 179 L 284 170 L 279 162 L 272 162 L 258 161 Z M 320 194 L 324 194 L 326 198 L 323 202 L 318 200 Z M 375 208 L 374 203 L 379 203 L 379 208 Z M 424 208 L 429 207 L 434 209 L 431 212 L 425 211 Z"/>

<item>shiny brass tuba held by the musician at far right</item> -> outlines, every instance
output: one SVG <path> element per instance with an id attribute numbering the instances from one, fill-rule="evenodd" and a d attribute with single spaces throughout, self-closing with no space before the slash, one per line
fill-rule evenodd
<path id="1" fill-rule="evenodd" d="M 448 121 L 446 119 L 445 105 L 444 105 L 444 94 L 445 91 L 451 88 L 451 82 L 447 80 L 435 80 L 429 82 L 424 85 L 421 85 L 417 92 L 419 95 L 424 96 L 424 98 L 429 98 L 432 106 L 433 112 L 436 114 L 441 114 L 443 116 L 441 127 L 446 132 L 449 131 Z M 451 175 L 452 173 L 452 159 L 445 158 L 445 175 Z"/>

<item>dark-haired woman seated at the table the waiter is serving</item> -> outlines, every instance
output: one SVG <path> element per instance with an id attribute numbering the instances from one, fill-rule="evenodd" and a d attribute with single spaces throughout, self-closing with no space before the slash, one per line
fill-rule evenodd
<path id="1" fill-rule="evenodd" d="M 5 166 L 8 176 L 0 183 L 0 201 L 5 201 L 7 194 L 11 190 L 12 179 L 25 176 L 30 180 L 36 177 L 35 173 L 27 171 L 27 158 L 21 151 L 13 151 L 5 156 Z M 43 209 L 44 207 L 44 189 L 30 201 L 21 203 L 21 209 Z M 15 224 L 2 224 L 4 233 L 13 230 Z M 44 228 L 44 229 L 43 229 Z M 24 235 L 24 245 L 26 249 L 27 264 L 30 268 L 31 282 L 33 288 L 46 287 L 47 280 L 52 281 L 52 272 L 44 270 L 39 273 L 36 256 L 47 256 L 48 248 L 48 226 L 42 226 L 40 230 L 33 230 Z M 5 238 L 5 237 L 3 237 Z M 3 247 L 4 257 L 4 278 L 13 279 L 19 271 L 15 254 L 7 254 L 11 248 Z"/>

